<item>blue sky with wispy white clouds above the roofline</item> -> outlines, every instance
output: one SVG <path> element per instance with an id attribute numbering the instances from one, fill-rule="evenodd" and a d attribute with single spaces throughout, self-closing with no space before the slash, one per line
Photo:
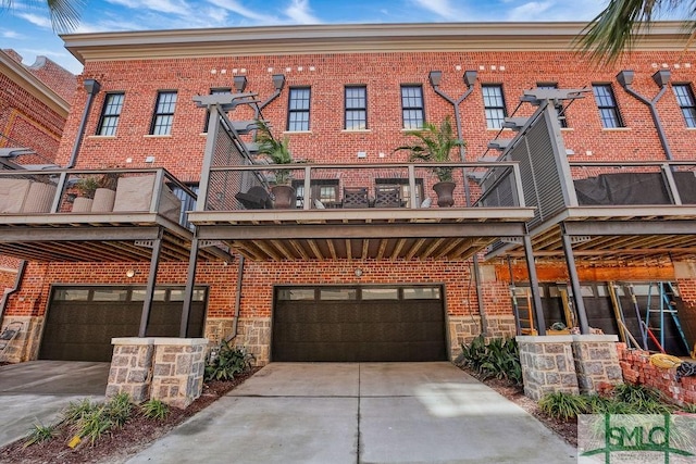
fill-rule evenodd
<path id="1" fill-rule="evenodd" d="M 4 1 L 2 2 L 5 3 Z M 588 21 L 607 0 L 85 0 L 75 33 L 337 23 Z M 0 48 L 78 74 L 42 0 L 0 10 Z"/>

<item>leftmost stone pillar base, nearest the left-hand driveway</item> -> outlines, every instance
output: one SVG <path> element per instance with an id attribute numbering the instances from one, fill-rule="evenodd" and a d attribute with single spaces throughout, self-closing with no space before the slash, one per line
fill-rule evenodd
<path id="1" fill-rule="evenodd" d="M 107 398 L 128 393 L 136 403 L 150 398 L 152 379 L 152 338 L 113 338 L 113 358 L 109 371 Z"/>

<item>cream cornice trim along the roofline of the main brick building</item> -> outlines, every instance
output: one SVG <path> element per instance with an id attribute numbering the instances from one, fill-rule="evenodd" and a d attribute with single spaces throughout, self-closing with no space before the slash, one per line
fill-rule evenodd
<path id="1" fill-rule="evenodd" d="M 586 23 L 331 24 L 62 35 L 87 61 L 396 51 L 572 51 Z M 634 47 L 684 50 L 681 22 L 655 23 Z"/>

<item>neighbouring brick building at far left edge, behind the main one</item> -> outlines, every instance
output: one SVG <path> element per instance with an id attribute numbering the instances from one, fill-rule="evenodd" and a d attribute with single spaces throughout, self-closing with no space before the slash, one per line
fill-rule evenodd
<path id="1" fill-rule="evenodd" d="M 27 66 L 14 50 L 0 50 L 0 163 L 53 163 L 76 86 L 46 57 Z M 17 259 L 0 255 L 0 290 L 14 287 L 18 267 Z"/>

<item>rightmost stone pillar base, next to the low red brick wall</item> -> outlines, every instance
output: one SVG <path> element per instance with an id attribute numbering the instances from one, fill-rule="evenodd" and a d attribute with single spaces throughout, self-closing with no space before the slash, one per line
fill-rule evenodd
<path id="1" fill-rule="evenodd" d="M 600 385 L 623 383 L 616 335 L 573 335 L 573 359 L 582 393 L 594 393 Z"/>

